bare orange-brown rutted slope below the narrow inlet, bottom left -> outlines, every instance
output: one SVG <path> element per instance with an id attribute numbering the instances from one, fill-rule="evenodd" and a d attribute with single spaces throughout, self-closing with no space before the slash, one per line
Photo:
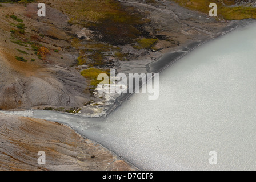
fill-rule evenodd
<path id="1" fill-rule="evenodd" d="M 0 170 L 137 170 L 69 127 L 0 114 Z M 38 164 L 45 151 L 46 164 Z"/>

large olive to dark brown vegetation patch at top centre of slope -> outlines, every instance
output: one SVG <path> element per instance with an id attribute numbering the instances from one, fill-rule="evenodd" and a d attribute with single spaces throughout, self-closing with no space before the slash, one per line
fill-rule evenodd
<path id="1" fill-rule="evenodd" d="M 70 24 L 81 24 L 97 31 L 96 38 L 112 45 L 128 44 L 142 35 L 138 26 L 150 22 L 134 7 L 123 6 L 115 0 L 87 0 L 59 7 L 70 17 Z"/>

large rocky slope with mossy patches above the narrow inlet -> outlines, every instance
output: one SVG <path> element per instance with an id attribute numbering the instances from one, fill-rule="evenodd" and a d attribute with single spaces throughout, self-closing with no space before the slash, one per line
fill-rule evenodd
<path id="1" fill-rule="evenodd" d="M 0 109 L 105 114 L 114 100 L 94 95 L 95 69 L 150 72 L 163 54 L 190 51 L 236 26 L 174 1 L 45 3 L 46 17 L 37 3 L 1 4 Z"/>

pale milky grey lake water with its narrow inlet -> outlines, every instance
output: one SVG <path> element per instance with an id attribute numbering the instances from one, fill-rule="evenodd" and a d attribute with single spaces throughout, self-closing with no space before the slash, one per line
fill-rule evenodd
<path id="1" fill-rule="evenodd" d="M 256 24 L 212 40 L 159 75 L 159 98 L 133 94 L 106 118 L 34 111 L 67 123 L 139 169 L 256 169 Z M 209 152 L 217 152 L 217 165 Z"/>

